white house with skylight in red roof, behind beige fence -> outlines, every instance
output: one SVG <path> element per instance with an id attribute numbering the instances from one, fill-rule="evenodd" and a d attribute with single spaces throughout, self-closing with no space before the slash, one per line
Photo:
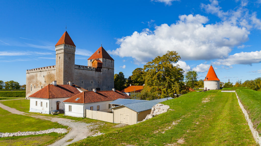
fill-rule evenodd
<path id="1" fill-rule="evenodd" d="M 109 103 L 119 98 L 129 99 L 130 97 L 115 89 L 106 91 L 93 89 L 93 91 L 82 92 L 64 100 L 64 113 L 72 117 L 86 117 L 86 109 L 108 111 L 111 107 Z"/>

